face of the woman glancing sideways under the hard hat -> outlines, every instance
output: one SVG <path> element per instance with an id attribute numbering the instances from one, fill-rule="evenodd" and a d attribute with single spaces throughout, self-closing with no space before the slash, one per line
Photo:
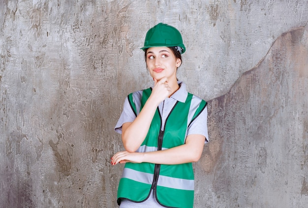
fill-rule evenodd
<path id="1" fill-rule="evenodd" d="M 173 51 L 168 47 L 152 47 L 146 54 L 147 67 L 150 75 L 160 80 L 167 77 L 168 80 L 177 79 L 177 68 L 181 65 L 181 59 L 176 59 Z"/>

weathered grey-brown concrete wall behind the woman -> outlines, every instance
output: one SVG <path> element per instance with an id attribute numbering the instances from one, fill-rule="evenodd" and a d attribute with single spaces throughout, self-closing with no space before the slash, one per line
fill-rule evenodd
<path id="1" fill-rule="evenodd" d="M 0 208 L 117 207 L 113 127 L 152 86 L 139 48 L 159 22 L 209 101 L 195 207 L 305 207 L 307 21 L 306 0 L 1 0 Z"/>

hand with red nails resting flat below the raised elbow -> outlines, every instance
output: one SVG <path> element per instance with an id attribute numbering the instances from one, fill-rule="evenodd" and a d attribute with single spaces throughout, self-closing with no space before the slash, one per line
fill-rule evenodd
<path id="1" fill-rule="evenodd" d="M 111 158 L 111 165 L 126 162 L 141 163 L 141 155 L 141 152 L 119 151 Z"/>

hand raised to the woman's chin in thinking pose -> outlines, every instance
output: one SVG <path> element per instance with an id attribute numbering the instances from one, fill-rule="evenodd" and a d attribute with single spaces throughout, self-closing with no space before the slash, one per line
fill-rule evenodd
<path id="1" fill-rule="evenodd" d="M 163 77 L 160 80 L 154 79 L 154 88 L 151 93 L 151 98 L 153 98 L 157 105 L 162 102 L 164 99 L 169 97 L 172 93 L 171 88 L 168 85 L 168 79 L 167 77 Z"/>

